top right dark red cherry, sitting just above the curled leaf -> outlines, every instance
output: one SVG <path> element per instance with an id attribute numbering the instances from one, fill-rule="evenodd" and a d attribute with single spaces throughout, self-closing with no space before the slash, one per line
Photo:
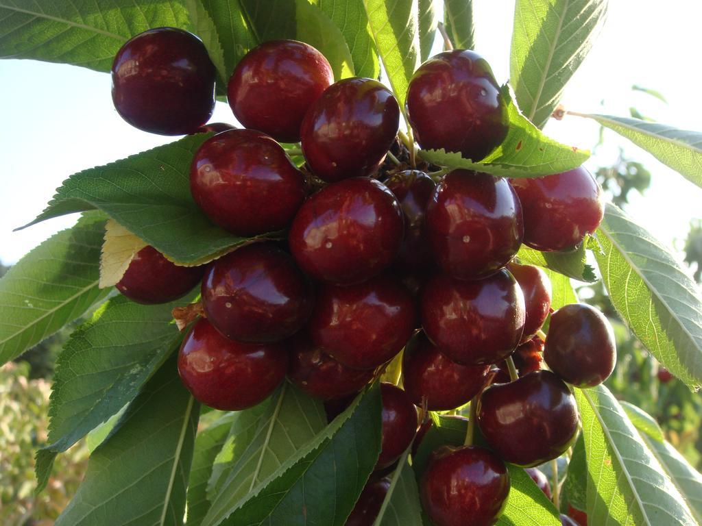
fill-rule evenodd
<path id="1" fill-rule="evenodd" d="M 507 136 L 505 101 L 490 65 L 475 51 L 445 51 L 424 62 L 409 83 L 406 106 L 424 149 L 479 161 Z"/>

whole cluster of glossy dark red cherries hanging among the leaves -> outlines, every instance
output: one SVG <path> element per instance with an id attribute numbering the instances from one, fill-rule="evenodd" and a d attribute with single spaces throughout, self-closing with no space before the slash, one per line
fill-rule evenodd
<path id="1" fill-rule="evenodd" d="M 552 313 L 546 337 L 550 282 L 515 255 L 522 243 L 567 250 L 597 228 L 602 194 L 587 170 L 507 180 L 410 168 L 402 159 L 414 161 L 414 145 L 397 142 L 392 93 L 372 79 L 334 83 L 324 56 L 297 41 L 263 43 L 234 69 L 227 95 L 246 129 L 205 125 L 215 68 L 201 41 L 179 29 L 128 41 L 112 79 L 115 107 L 133 126 L 219 132 L 190 170 L 194 201 L 212 222 L 237 236 L 288 232 L 205 267 L 177 266 L 147 247 L 117 285 L 137 302 L 160 303 L 201 282 L 203 316 L 178 358 L 197 400 L 243 410 L 287 376 L 325 400 L 331 419 L 404 349 L 395 382 L 404 389 L 380 385 L 378 475 L 347 525 L 373 522 L 388 489 L 383 474 L 430 426 L 424 419 L 417 432 L 416 406 L 425 416 L 474 400 L 489 444 L 434 452 L 420 492 L 437 526 L 494 524 L 510 489 L 504 462 L 537 466 L 572 445 L 578 410 L 564 381 L 604 381 L 614 337 L 585 304 Z M 508 132 L 498 84 L 470 50 L 425 62 L 406 114 L 422 147 L 470 159 Z M 298 141 L 302 168 L 279 144 Z"/>

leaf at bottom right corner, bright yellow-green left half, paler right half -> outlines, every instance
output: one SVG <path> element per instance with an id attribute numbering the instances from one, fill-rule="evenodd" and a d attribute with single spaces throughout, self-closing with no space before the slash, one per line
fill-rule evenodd
<path id="1" fill-rule="evenodd" d="M 576 389 L 588 465 L 588 522 L 695 526 L 677 488 L 605 386 Z"/>

